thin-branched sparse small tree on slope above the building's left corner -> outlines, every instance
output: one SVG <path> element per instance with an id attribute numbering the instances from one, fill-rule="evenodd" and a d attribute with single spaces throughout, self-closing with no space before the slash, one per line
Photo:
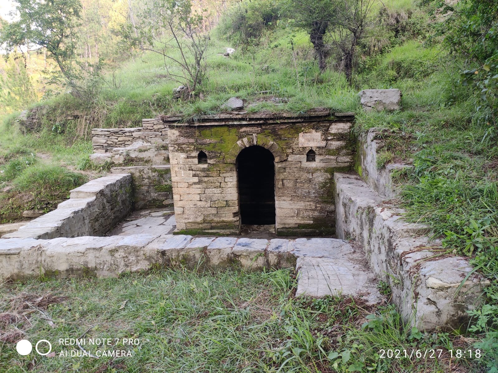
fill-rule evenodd
<path id="1" fill-rule="evenodd" d="M 183 95 L 191 97 L 206 78 L 210 37 L 203 18 L 190 0 L 153 0 L 138 21 L 123 27 L 122 36 L 128 47 L 162 56 L 164 77 L 186 86 Z"/>

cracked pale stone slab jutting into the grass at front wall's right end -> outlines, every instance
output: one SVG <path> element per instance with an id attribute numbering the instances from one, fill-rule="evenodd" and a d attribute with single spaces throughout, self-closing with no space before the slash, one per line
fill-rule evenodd
<path id="1" fill-rule="evenodd" d="M 329 258 L 297 259 L 296 296 L 344 295 L 360 297 L 368 304 L 381 301 L 373 274 L 360 264 Z"/>

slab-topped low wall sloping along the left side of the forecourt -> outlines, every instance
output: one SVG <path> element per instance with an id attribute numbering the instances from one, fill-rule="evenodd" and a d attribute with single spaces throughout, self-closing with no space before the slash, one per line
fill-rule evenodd
<path id="1" fill-rule="evenodd" d="M 132 209 L 131 176 L 117 174 L 92 180 L 71 190 L 70 199 L 56 210 L 31 220 L 5 238 L 50 239 L 56 237 L 102 236 Z"/>

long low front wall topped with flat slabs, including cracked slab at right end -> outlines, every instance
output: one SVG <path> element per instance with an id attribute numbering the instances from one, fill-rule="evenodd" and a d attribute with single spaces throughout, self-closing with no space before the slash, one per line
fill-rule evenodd
<path id="1" fill-rule="evenodd" d="M 116 277 L 128 271 L 178 264 L 193 269 L 200 265 L 211 268 L 236 265 L 251 271 L 296 268 L 298 295 L 342 293 L 364 297 L 372 303 L 382 299 L 376 290 L 373 274 L 362 264 L 364 260 L 352 253 L 352 247 L 343 240 L 139 234 L 50 240 L 11 238 L 1 241 L 0 279 L 3 280 L 33 278 L 40 274 Z M 350 260 L 346 261 L 346 258 Z M 345 271 L 335 270 L 331 261 L 340 262 L 343 266 L 348 264 L 348 268 Z M 317 271 L 319 268 L 324 271 Z M 367 282 L 369 284 L 365 286 Z"/>

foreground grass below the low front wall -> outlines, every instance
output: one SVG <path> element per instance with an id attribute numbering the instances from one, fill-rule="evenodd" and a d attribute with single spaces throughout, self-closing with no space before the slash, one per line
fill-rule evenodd
<path id="1" fill-rule="evenodd" d="M 194 273 L 30 280 L 0 287 L 0 370 L 14 372 L 450 372 L 458 336 L 405 327 L 392 306 L 350 298 L 293 298 L 292 272 Z M 85 334 L 86 333 L 86 334 Z M 52 343 L 55 357 L 19 356 L 18 336 Z M 17 336 L 17 337 L 16 337 Z M 59 338 L 118 338 L 132 357 L 65 357 Z M 139 344 L 123 346 L 123 338 Z M 440 359 L 382 359 L 378 350 L 441 348 Z M 337 370 L 333 367 L 336 366 Z M 467 372 L 468 362 L 451 368 Z"/>

